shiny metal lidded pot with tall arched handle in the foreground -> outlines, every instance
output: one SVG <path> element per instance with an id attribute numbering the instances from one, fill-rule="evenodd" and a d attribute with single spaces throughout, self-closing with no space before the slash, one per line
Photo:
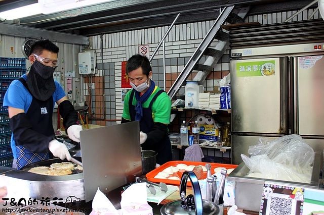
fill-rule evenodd
<path id="1" fill-rule="evenodd" d="M 186 197 L 186 187 L 188 178 L 191 181 L 193 195 Z M 160 209 L 163 215 L 173 214 L 220 214 L 220 208 L 212 201 L 201 198 L 200 187 L 196 175 L 189 171 L 184 172 L 180 183 L 180 200 L 171 201 L 163 205 Z"/>

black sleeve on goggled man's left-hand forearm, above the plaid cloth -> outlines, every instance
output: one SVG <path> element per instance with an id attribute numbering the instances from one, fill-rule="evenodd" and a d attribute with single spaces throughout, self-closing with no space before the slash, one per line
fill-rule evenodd
<path id="1" fill-rule="evenodd" d="M 10 119 L 10 128 L 14 134 L 16 145 L 22 145 L 31 152 L 49 152 L 49 142 L 53 137 L 45 136 L 32 130 L 32 125 L 25 113 Z"/>

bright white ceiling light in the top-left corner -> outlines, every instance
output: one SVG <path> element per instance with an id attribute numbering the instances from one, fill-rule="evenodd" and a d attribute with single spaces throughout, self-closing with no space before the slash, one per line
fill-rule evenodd
<path id="1" fill-rule="evenodd" d="M 9 11 L 4 11 L 0 13 L 1 20 L 14 20 L 22 17 L 29 17 L 36 14 L 41 14 L 41 8 L 38 3 L 26 5 L 20 8 L 15 8 Z"/>

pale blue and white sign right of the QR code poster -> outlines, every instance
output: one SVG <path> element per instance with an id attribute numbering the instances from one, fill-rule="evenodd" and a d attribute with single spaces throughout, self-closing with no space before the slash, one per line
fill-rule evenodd
<path id="1" fill-rule="evenodd" d="M 305 188 L 303 215 L 324 214 L 324 190 Z"/>

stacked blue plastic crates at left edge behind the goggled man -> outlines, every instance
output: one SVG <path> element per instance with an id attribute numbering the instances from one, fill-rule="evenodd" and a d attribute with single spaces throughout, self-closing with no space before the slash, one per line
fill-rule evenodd
<path id="1" fill-rule="evenodd" d="M 12 167 L 14 157 L 10 146 L 11 129 L 8 109 L 3 107 L 10 83 L 26 73 L 25 58 L 0 57 L 0 166 Z"/>

